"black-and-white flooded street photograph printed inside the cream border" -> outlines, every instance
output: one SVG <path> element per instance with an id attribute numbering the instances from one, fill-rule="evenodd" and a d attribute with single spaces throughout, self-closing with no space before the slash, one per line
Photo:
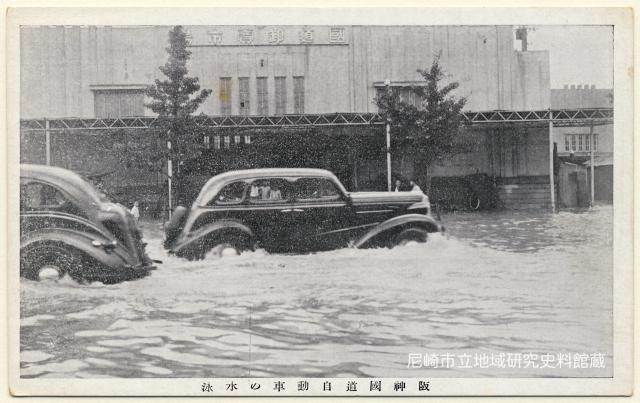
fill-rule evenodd
<path id="1" fill-rule="evenodd" d="M 20 380 L 614 377 L 614 24 L 248 21 L 20 24 Z"/>

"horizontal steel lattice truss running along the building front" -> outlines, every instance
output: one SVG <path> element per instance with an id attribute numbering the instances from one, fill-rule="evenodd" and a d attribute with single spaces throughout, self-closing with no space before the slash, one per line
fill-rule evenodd
<path id="1" fill-rule="evenodd" d="M 464 112 L 465 126 L 500 125 L 520 123 L 540 125 L 553 122 L 554 126 L 591 126 L 613 123 L 613 108 L 593 109 L 547 109 L 537 111 L 484 111 Z M 377 113 L 325 113 L 281 116 L 195 116 L 194 121 L 202 128 L 279 128 L 322 126 L 373 126 L 384 125 Z M 105 129 L 153 129 L 162 127 L 158 117 L 129 118 L 64 118 L 22 119 L 20 130 L 105 130 Z"/>

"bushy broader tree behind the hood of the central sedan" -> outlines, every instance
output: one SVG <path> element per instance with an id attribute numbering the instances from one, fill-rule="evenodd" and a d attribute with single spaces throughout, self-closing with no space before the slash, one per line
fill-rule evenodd
<path id="1" fill-rule="evenodd" d="M 381 115 L 387 119 L 401 149 L 411 153 L 416 167 L 415 180 L 428 191 L 431 165 L 440 158 L 459 151 L 456 140 L 462 123 L 462 108 L 466 98 L 451 94 L 458 82 L 440 86 L 445 78 L 440 67 L 440 55 L 431 67 L 418 70 L 426 85 L 409 89 L 421 99 L 420 106 L 406 102 L 397 91 L 388 88 L 375 99 Z"/>

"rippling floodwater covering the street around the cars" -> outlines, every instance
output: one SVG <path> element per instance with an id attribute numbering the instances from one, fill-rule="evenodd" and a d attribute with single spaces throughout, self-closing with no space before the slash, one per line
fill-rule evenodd
<path id="1" fill-rule="evenodd" d="M 144 222 L 151 276 L 21 281 L 21 376 L 611 376 L 611 207 L 458 213 L 427 244 L 188 262 Z M 601 353 L 604 368 L 433 368 L 409 355 Z"/>

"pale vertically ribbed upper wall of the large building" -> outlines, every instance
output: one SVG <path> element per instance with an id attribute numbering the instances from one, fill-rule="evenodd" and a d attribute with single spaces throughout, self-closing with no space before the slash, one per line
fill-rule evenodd
<path id="1" fill-rule="evenodd" d="M 210 28 L 215 27 L 190 29 L 195 36 Z M 224 29 L 235 28 L 241 27 Z M 168 29 L 23 27 L 21 117 L 94 117 L 91 85 L 152 83 L 166 61 Z M 319 33 L 326 27 L 315 29 Z M 207 114 L 220 112 L 220 77 L 232 78 L 232 113 L 239 112 L 238 77 L 252 79 L 252 108 L 254 78 L 269 77 L 273 110 L 273 77 L 280 75 L 287 77 L 288 113 L 293 113 L 293 76 L 305 77 L 306 113 L 372 112 L 374 82 L 419 81 L 416 70 L 428 68 L 438 53 L 446 73 L 460 82 L 459 95 L 468 96 L 467 110 L 549 107 L 548 53 L 516 52 L 510 26 L 354 26 L 345 27 L 342 44 L 204 45 L 191 50 L 190 73 L 214 91 L 201 110 Z"/>

